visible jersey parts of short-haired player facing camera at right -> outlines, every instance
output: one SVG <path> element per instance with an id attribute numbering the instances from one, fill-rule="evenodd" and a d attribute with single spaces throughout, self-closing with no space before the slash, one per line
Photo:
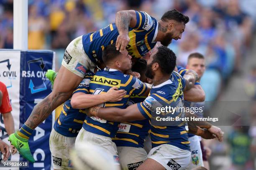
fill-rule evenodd
<path id="1" fill-rule="evenodd" d="M 185 75 L 187 69 L 185 69 L 184 67 L 178 66 L 178 72 L 180 75 Z M 201 85 L 200 82 L 196 81 L 195 85 Z M 184 107 L 197 107 L 197 108 L 204 108 L 205 102 L 189 102 L 187 100 L 184 100 Z M 197 117 L 203 117 L 203 112 L 195 112 L 195 114 L 197 115 Z M 192 133 L 188 133 L 189 138 L 195 136 Z"/>

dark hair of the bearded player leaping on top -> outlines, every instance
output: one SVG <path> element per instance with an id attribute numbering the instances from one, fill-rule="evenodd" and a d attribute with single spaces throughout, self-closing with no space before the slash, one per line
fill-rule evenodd
<path id="1" fill-rule="evenodd" d="M 162 16 L 161 20 L 175 20 L 179 23 L 187 24 L 189 22 L 189 17 L 187 15 L 183 15 L 178 10 L 169 10 Z"/>

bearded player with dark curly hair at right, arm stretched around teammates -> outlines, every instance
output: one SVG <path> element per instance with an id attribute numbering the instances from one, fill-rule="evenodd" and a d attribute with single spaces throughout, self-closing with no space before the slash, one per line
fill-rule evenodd
<path id="1" fill-rule="evenodd" d="M 148 60 L 146 76 L 153 78 L 153 87 L 150 95 L 141 103 L 127 107 L 126 109 L 91 107 L 88 115 L 101 117 L 115 122 L 151 119 L 151 111 L 161 107 L 165 102 L 172 107 L 183 106 L 183 90 L 191 89 L 196 73 L 187 72 L 184 78 L 174 72 L 176 56 L 172 50 L 161 46 Z M 175 113 L 174 115 L 179 115 Z M 182 114 L 183 115 L 183 114 Z M 210 130 L 211 128 L 209 128 Z M 207 130 L 189 128 L 189 132 L 206 138 L 212 138 Z M 184 169 L 190 162 L 191 152 L 185 122 L 176 126 L 155 126 L 150 128 L 152 149 L 148 158 L 138 170 L 173 170 Z"/>

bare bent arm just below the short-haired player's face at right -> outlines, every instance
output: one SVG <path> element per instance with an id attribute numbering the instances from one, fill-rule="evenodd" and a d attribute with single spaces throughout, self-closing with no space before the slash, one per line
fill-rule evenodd
<path id="1" fill-rule="evenodd" d="M 194 85 L 190 90 L 184 91 L 184 100 L 203 102 L 205 101 L 205 92 L 200 85 Z"/>

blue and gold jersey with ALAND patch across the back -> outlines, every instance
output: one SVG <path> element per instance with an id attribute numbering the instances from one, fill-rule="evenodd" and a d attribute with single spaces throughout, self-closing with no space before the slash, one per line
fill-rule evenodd
<path id="1" fill-rule="evenodd" d="M 118 87 L 119 90 L 124 89 L 127 94 L 119 102 L 105 102 L 99 105 L 100 107 L 118 107 L 124 109 L 127 107 L 127 102 L 131 94 L 143 94 L 147 86 L 132 75 L 125 75 L 122 72 L 105 68 L 98 71 L 90 82 L 90 94 L 97 95 L 108 92 L 111 87 Z M 83 128 L 91 133 L 115 137 L 118 130 L 118 122 L 110 122 L 99 117 L 86 117 Z"/>

